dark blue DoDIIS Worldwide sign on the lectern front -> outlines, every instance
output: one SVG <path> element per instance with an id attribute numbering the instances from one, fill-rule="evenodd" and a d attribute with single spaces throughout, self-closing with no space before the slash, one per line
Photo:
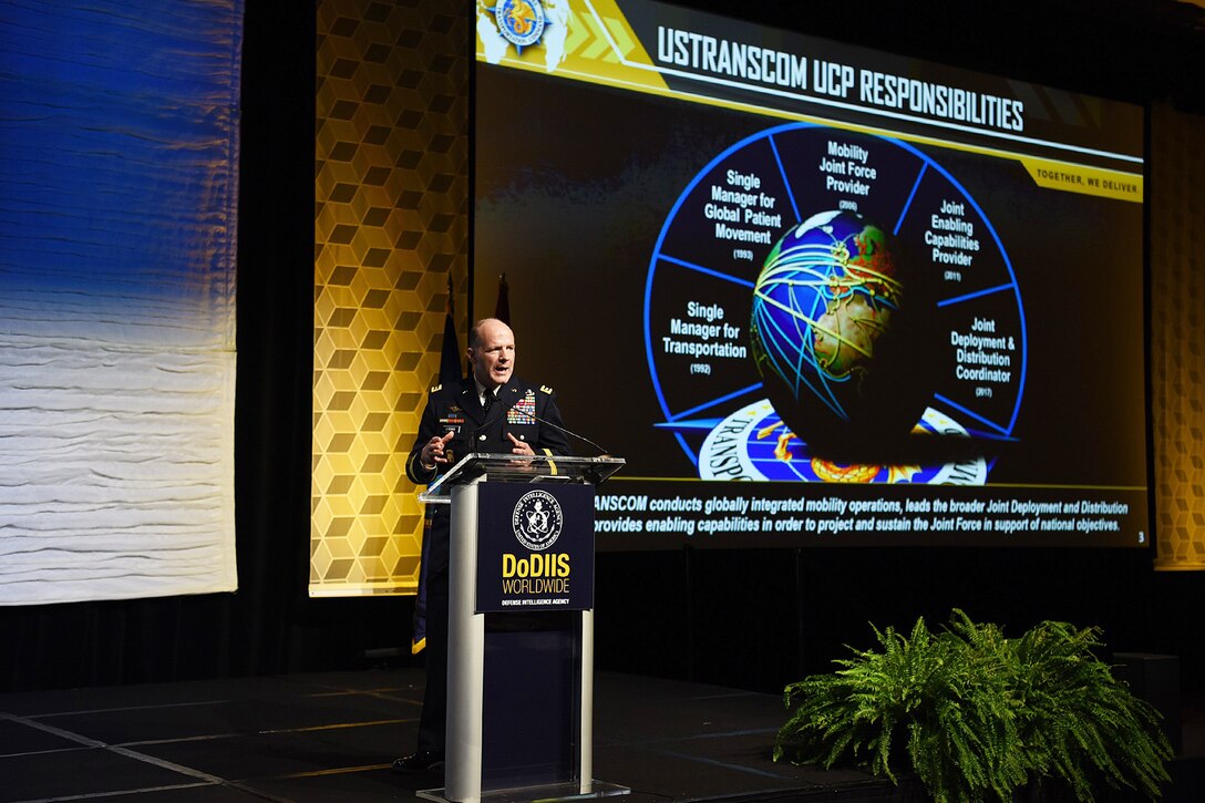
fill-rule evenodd
<path id="1" fill-rule="evenodd" d="M 477 498 L 478 614 L 594 608 L 594 488 L 486 482 Z"/>

